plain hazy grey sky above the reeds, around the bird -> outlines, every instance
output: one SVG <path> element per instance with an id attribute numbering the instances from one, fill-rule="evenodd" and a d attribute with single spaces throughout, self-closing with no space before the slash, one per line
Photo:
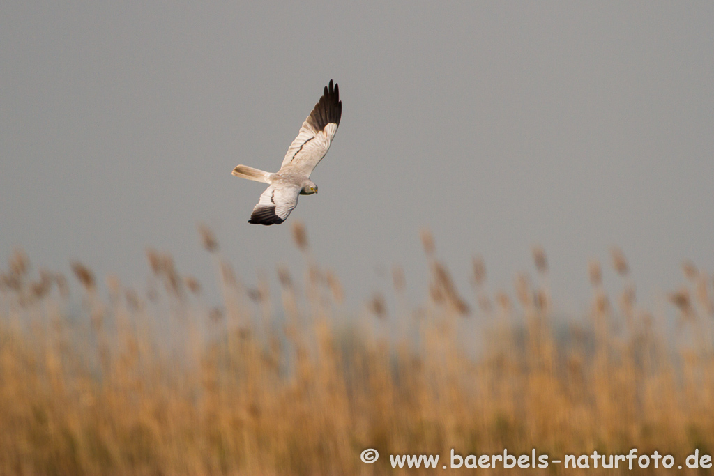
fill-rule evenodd
<path id="1" fill-rule="evenodd" d="M 251 226 L 334 79 L 343 115 L 282 226 Z M 714 3 L 31 2 L 0 4 L 0 259 L 141 285 L 145 248 L 215 288 L 196 223 L 252 283 L 301 270 L 291 222 L 353 305 L 425 295 L 418 238 L 471 300 L 548 253 L 555 299 L 588 302 L 586 263 L 630 260 L 638 294 L 714 270 Z"/>

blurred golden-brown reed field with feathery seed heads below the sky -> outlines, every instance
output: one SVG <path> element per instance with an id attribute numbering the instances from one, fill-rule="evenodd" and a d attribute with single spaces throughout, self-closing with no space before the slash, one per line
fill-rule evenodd
<path id="1" fill-rule="evenodd" d="M 0 473 L 4 475 L 705 474 L 714 453 L 711 275 L 684 263 L 682 288 L 654 313 L 628 263 L 591 261 L 585 315 L 554 312 L 545 251 L 533 272 L 494 290 L 473 259 L 454 283 L 428 232 L 428 295 L 405 276 L 358 309 L 343 303 L 306 231 L 304 269 L 248 286 L 199 229 L 215 283 L 147 250 L 151 276 L 130 288 L 72 263 L 44 270 L 17 250 L 0 270 Z M 614 266 L 608 295 L 601 266 Z M 680 270 L 673 270 L 679 273 Z M 246 278 L 247 279 L 247 278 Z M 206 304 L 208 286 L 222 302 Z M 661 315 L 660 315 L 661 314 Z M 465 325 L 469 323 L 469 325 Z M 378 450 L 367 464 L 361 453 Z M 461 457 L 673 455 L 671 470 L 451 469 Z M 438 469 L 390 455 L 440 455 Z M 446 465 L 448 469 L 443 470 Z M 683 470 L 678 470 L 678 465 Z"/>

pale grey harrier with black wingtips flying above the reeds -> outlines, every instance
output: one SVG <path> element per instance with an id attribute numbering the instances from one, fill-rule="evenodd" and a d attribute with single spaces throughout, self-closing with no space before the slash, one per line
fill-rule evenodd
<path id="1" fill-rule="evenodd" d="M 248 223 L 279 225 L 298 205 L 298 196 L 317 193 L 317 186 L 310 180 L 310 174 L 330 148 L 341 115 L 340 91 L 337 84 L 332 86 L 330 80 L 320 101 L 290 144 L 279 171 L 270 173 L 248 166 L 233 169 L 236 177 L 270 184 L 253 207 Z"/>

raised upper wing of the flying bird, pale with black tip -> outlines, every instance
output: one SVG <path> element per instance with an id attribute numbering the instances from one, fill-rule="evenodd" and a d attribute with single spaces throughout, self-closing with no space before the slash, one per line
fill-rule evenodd
<path id="1" fill-rule="evenodd" d="M 337 84 L 333 87 L 330 80 L 329 86 L 325 86 L 320 101 L 303 122 L 298 136 L 290 144 L 281 170 L 285 167 L 293 168 L 309 177 L 330 148 L 341 116 L 340 90 Z"/>

